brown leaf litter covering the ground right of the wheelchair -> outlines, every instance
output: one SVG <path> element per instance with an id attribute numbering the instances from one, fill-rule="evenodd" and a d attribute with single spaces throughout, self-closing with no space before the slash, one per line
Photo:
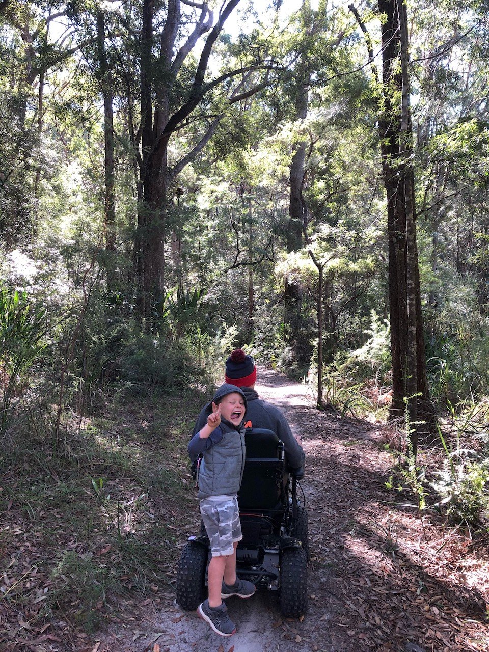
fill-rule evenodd
<path id="1" fill-rule="evenodd" d="M 472 621 L 478 637 L 487 635 L 487 597 L 460 584 L 460 572 L 443 555 L 426 552 L 417 505 L 396 503 L 384 484 L 389 467 L 381 473 L 369 459 L 376 442 L 358 437 L 352 422 L 338 427 L 328 419 L 323 426 L 305 445 L 310 574 L 333 569 L 346 616 L 336 624 L 351 638 L 345 652 L 404 651 L 409 643 L 419 652 L 486 649 L 469 647 L 465 623 Z M 439 538 L 441 516 L 424 519 L 427 536 Z M 409 530 L 419 530 L 417 546 Z"/>

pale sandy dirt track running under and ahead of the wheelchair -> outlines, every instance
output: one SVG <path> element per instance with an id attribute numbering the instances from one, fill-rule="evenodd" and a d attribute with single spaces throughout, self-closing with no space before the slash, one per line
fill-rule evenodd
<path id="1" fill-rule="evenodd" d="M 258 375 L 256 389 L 259 395 L 282 409 L 294 434 L 303 436 L 309 464 L 310 453 L 322 442 L 304 428 L 304 414 L 308 413 L 310 418 L 317 415 L 306 398 L 306 387 L 269 370 L 259 369 Z M 314 524 L 321 518 L 321 500 L 312 500 L 316 489 L 310 488 L 308 473 L 301 488 L 306 496 L 309 518 Z M 159 614 L 153 615 L 153 622 L 158 627 L 154 636 L 145 636 L 148 649 L 153 649 L 151 644 L 158 634 L 156 642 L 160 650 L 168 649 L 169 652 L 296 652 L 300 649 L 335 652 L 346 649 L 341 641 L 344 628 L 338 628 L 337 634 L 331 629 L 338 606 L 334 599 L 334 579 L 327 559 L 319 559 L 316 555 L 317 546 L 318 542 L 314 541 L 314 561 L 310 562 L 308 569 L 310 609 L 302 622 L 283 619 L 276 594 L 259 591 L 249 600 L 231 598 L 226 601 L 228 612 L 237 625 L 237 633 L 227 639 L 212 632 L 196 613 L 183 612 L 175 604 L 168 604 Z M 138 647 L 139 651 L 141 649 Z"/>

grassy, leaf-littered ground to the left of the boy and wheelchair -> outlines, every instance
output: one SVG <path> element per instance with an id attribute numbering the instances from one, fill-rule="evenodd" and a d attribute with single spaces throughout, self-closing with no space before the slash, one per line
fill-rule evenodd
<path id="1" fill-rule="evenodd" d="M 194 518 L 185 449 L 200 403 L 153 395 L 73 417 L 57 452 L 49 438 L 10 432 L 0 452 L 0 621 L 91 632 L 117 615 L 117 596 L 168 590 L 185 527 L 177 514 L 187 507 Z"/>

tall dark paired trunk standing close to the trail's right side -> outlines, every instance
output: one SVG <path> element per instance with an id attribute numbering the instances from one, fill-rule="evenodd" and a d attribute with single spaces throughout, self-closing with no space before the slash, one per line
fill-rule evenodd
<path id="1" fill-rule="evenodd" d="M 404 415 L 417 450 L 419 413 L 432 418 L 426 379 L 421 289 L 415 222 L 412 126 L 409 106 L 408 25 L 402 0 L 378 0 L 386 16 L 381 28 L 383 111 L 379 119 L 383 177 L 387 192 L 389 232 L 389 304 L 393 403 L 391 417 Z M 396 97 L 401 97 L 400 106 Z"/>

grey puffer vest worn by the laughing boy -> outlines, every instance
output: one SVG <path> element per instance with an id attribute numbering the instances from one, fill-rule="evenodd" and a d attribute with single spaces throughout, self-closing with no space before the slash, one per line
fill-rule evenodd
<path id="1" fill-rule="evenodd" d="M 199 471 L 199 498 L 236 494 L 244 469 L 244 426 L 235 428 L 225 419 L 222 440 L 203 452 Z"/>

